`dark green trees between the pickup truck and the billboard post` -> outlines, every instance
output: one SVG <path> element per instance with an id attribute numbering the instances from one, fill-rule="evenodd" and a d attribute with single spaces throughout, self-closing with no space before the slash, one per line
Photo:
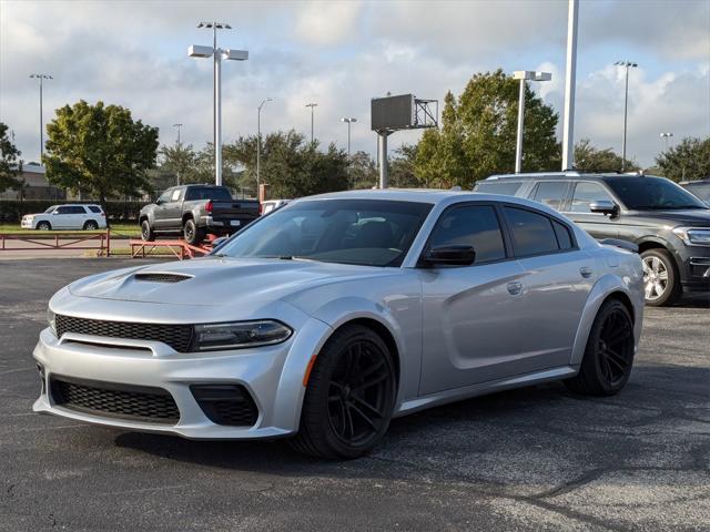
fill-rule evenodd
<path id="1" fill-rule="evenodd" d="M 241 186 L 256 184 L 256 135 L 241 136 L 224 146 L 224 160 L 241 166 Z M 305 142 L 295 131 L 270 133 L 262 142 L 261 181 L 266 183 L 268 197 L 301 197 L 348 186 L 347 154 L 331 144 L 327 151 L 318 143 Z M 225 180 L 226 182 L 226 180 Z"/>

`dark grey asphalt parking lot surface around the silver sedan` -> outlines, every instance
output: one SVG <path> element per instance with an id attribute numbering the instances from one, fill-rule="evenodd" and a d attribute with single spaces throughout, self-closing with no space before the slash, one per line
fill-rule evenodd
<path id="1" fill-rule="evenodd" d="M 33 415 L 49 297 L 126 263 L 0 260 L 0 530 L 710 530 L 707 298 L 647 309 L 617 397 L 471 399 L 337 463 Z"/>

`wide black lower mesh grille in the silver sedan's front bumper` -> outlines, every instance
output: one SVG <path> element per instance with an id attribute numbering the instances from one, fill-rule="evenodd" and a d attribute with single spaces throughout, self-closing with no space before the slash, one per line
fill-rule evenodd
<path id="1" fill-rule="evenodd" d="M 54 403 L 70 410 L 152 423 L 180 420 L 173 397 L 162 388 L 52 376 L 50 390 Z"/>

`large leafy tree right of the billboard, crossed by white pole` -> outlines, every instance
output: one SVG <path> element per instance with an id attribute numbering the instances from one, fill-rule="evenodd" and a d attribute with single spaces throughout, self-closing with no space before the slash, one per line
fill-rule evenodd
<path id="1" fill-rule="evenodd" d="M 519 82 L 503 70 L 478 73 L 457 99 L 446 94 L 442 126 L 424 132 L 415 174 L 425 186 L 469 188 L 478 180 L 515 168 Z M 559 166 L 558 115 L 532 90 L 525 92 L 525 172 Z"/>

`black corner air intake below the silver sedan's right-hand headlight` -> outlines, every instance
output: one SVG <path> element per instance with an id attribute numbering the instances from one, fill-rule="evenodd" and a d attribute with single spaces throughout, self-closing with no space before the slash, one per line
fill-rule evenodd
<path id="1" fill-rule="evenodd" d="M 258 409 L 243 386 L 192 385 L 190 390 L 212 422 L 231 427 L 252 427 L 256 423 Z"/>

